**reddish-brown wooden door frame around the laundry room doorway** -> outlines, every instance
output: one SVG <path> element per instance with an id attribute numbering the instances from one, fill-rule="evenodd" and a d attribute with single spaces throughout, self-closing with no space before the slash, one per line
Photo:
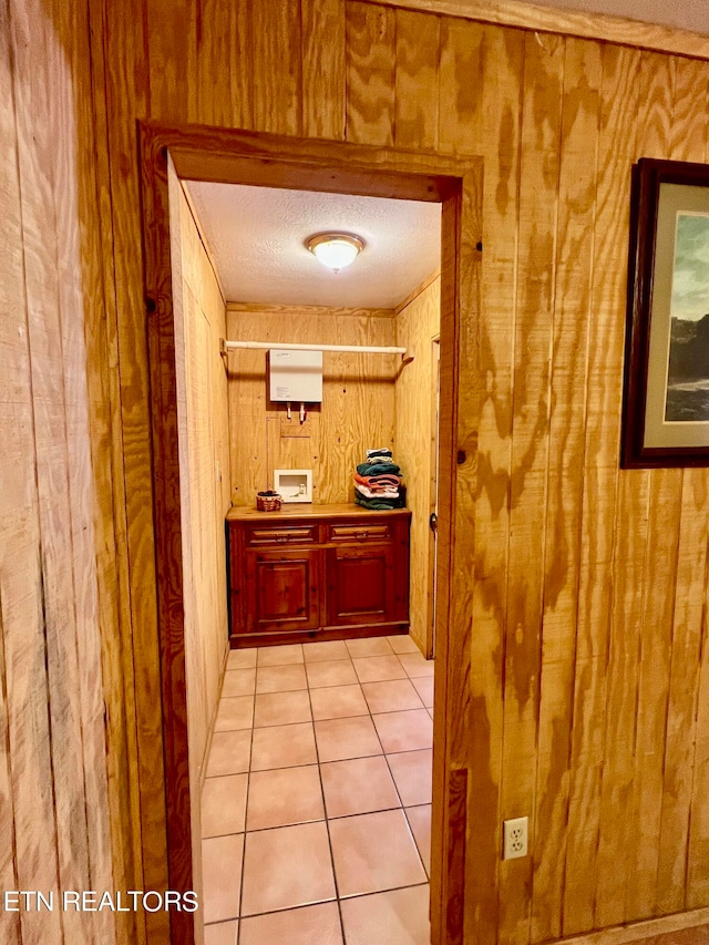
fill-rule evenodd
<path id="1" fill-rule="evenodd" d="M 193 873 L 168 156 L 182 179 L 442 204 L 431 934 L 436 945 L 462 943 L 467 799 L 474 790 L 469 686 L 482 158 L 153 122 L 138 122 L 138 136 L 171 890 L 192 888 Z M 491 834 L 494 830 L 490 824 Z M 173 945 L 191 945 L 193 916 L 172 912 L 169 917 Z"/>

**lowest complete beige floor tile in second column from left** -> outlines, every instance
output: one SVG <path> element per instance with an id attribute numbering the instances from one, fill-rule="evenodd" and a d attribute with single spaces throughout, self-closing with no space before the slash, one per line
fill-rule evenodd
<path id="1" fill-rule="evenodd" d="M 242 915 L 335 898 L 325 822 L 246 834 Z"/>

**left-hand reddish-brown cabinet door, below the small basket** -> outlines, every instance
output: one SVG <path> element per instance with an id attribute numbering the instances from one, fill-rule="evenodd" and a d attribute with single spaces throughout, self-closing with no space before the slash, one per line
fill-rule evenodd
<path id="1" fill-rule="evenodd" d="M 320 626 L 320 552 L 246 553 L 246 633 L 311 630 Z"/>

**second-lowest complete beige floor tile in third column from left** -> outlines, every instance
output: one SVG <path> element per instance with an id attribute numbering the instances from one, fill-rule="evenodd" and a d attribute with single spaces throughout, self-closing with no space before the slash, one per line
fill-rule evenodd
<path id="1" fill-rule="evenodd" d="M 329 818 L 386 811 L 400 807 L 383 754 L 330 761 L 320 766 Z"/>

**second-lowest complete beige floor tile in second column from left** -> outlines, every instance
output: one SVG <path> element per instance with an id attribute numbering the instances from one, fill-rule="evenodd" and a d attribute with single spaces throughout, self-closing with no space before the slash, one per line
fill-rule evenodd
<path id="1" fill-rule="evenodd" d="M 323 819 L 317 764 L 251 772 L 246 808 L 247 830 Z"/>

